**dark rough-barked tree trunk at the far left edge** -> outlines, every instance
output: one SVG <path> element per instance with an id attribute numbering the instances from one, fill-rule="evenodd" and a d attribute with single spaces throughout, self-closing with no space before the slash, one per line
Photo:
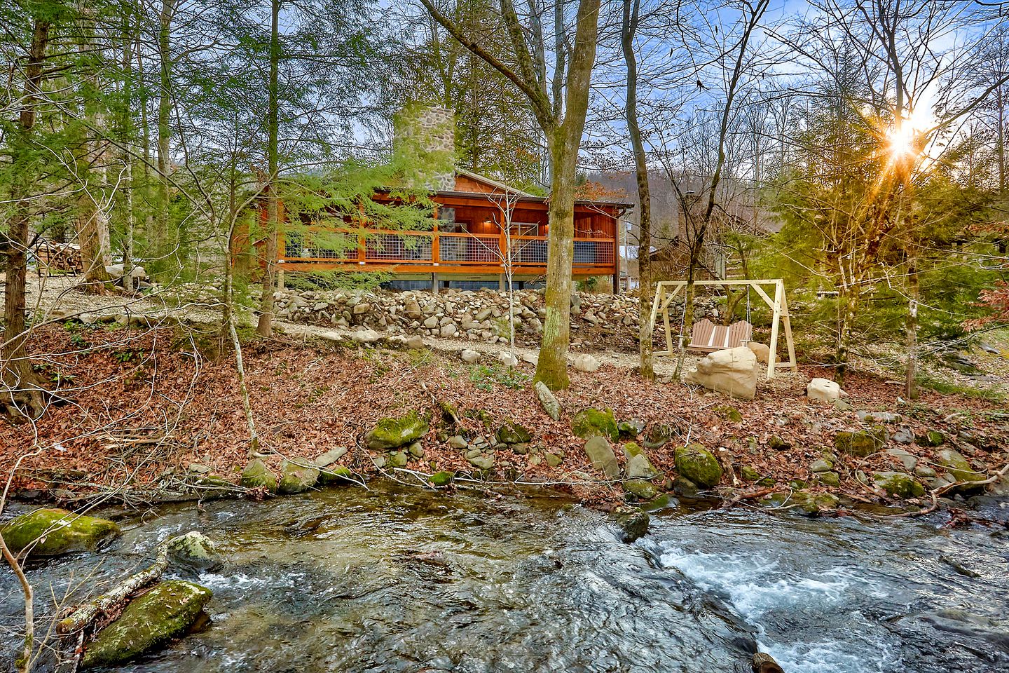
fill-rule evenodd
<path id="1" fill-rule="evenodd" d="M 25 66 L 23 104 L 11 142 L 13 172 L 11 204 L 13 214 L 8 227 L 7 284 L 4 287 L 4 331 L 0 349 L 0 411 L 12 421 L 35 419 L 45 409 L 42 389 L 28 362 L 25 348 L 25 281 L 28 271 L 28 222 L 31 219 L 31 190 L 34 187 L 32 134 L 35 109 L 42 80 L 42 64 L 49 40 L 49 21 L 35 19 L 28 62 Z"/>

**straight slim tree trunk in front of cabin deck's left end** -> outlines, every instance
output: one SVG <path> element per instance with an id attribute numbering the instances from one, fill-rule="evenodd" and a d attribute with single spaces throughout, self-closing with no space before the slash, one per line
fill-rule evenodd
<path id="1" fill-rule="evenodd" d="M 269 29 L 269 105 L 266 111 L 266 126 L 269 135 L 266 147 L 266 162 L 268 163 L 266 177 L 266 263 L 262 274 L 262 297 L 259 305 L 259 323 L 256 332 L 260 336 L 269 337 L 273 334 L 273 290 L 274 274 L 276 271 L 276 232 L 277 232 L 277 203 L 276 203 L 276 180 L 279 166 L 278 153 L 278 104 L 277 96 L 277 70 L 281 64 L 281 34 L 278 29 L 281 0 L 272 0 L 270 4 L 270 29 Z"/>

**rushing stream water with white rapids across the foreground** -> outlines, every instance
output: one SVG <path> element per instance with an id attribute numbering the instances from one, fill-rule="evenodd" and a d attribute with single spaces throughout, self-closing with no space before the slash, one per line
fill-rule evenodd
<path id="1" fill-rule="evenodd" d="M 104 552 L 30 568 L 40 610 L 171 535 L 228 558 L 169 572 L 213 589 L 212 624 L 122 671 L 719 673 L 759 648 L 788 673 L 1009 672 L 1005 532 L 939 517 L 670 508 L 625 545 L 562 498 L 397 485 L 106 514 L 124 534 Z M 19 600 L 0 571 L 0 661 Z"/>

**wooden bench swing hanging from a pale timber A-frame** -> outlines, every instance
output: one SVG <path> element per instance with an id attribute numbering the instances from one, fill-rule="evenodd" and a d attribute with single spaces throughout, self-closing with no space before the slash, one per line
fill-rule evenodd
<path id="1" fill-rule="evenodd" d="M 778 353 L 778 333 L 779 326 L 784 327 L 785 344 L 788 348 L 788 361 L 782 362 L 782 366 L 791 367 L 792 371 L 798 371 L 799 366 L 795 361 L 795 343 L 792 341 L 792 323 L 788 316 L 788 299 L 785 297 L 785 282 L 781 278 L 770 281 L 694 281 L 695 286 L 749 286 L 757 293 L 758 297 L 764 300 L 768 308 L 773 312 L 771 320 L 771 354 L 767 360 L 767 377 L 774 378 L 774 369 Z M 774 286 L 774 300 L 765 292 L 762 286 Z M 662 321 L 666 328 L 666 350 L 657 350 L 655 355 L 674 355 L 679 351 L 673 346 L 673 333 L 669 326 L 669 305 L 680 292 L 686 288 L 686 281 L 662 281 L 656 284 L 655 300 L 652 303 L 652 329 L 655 329 L 659 314 L 662 314 Z M 749 302 L 748 289 L 748 302 Z M 685 312 L 685 307 L 684 307 Z M 705 324 L 706 323 L 706 324 Z M 710 333 L 708 329 L 710 327 Z M 684 335 L 683 328 L 680 327 L 680 343 Z M 698 321 L 691 331 L 689 348 L 705 352 L 713 352 L 723 348 L 735 348 L 746 345 L 753 336 L 753 326 L 749 322 L 738 322 L 727 327 L 715 325 L 711 321 L 704 319 Z"/>

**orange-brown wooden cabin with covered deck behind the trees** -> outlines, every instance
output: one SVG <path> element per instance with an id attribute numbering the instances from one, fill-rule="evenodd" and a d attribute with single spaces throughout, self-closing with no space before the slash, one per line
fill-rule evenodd
<path id="1" fill-rule="evenodd" d="M 380 199 L 381 195 L 376 195 Z M 451 189 L 439 189 L 430 231 L 369 228 L 332 230 L 343 244 L 310 247 L 298 233 L 282 235 L 285 272 L 383 271 L 393 288 L 503 288 L 511 264 L 517 288 L 535 286 L 547 272 L 548 202 L 468 171 L 456 170 Z M 574 208 L 572 275 L 612 278 L 619 287 L 621 216 L 631 204 L 578 201 Z M 510 226 L 508 226 L 510 224 Z"/>

